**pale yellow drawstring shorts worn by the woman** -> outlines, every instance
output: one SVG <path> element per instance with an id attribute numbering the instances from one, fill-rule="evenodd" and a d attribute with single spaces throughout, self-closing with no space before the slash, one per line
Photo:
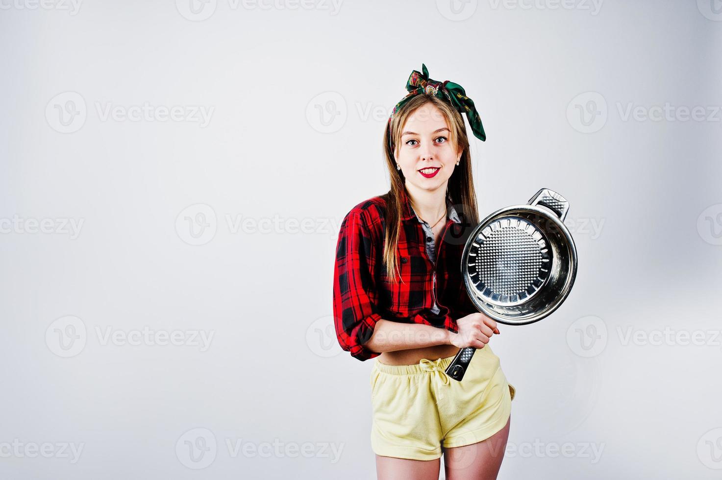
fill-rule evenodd
<path id="1" fill-rule="evenodd" d="M 453 357 L 371 370 L 371 448 L 377 455 L 435 460 L 441 448 L 481 442 L 503 429 L 516 389 L 489 344 L 474 352 L 461 381 L 444 370 Z"/>

